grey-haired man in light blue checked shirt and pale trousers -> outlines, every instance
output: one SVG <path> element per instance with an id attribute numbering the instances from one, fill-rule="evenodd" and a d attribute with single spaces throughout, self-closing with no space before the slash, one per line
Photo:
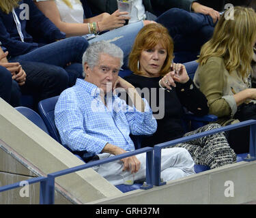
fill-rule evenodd
<path id="1" fill-rule="evenodd" d="M 87 151 L 99 159 L 134 150 L 130 134 L 149 135 L 156 131 L 156 120 L 145 99 L 118 76 L 122 50 L 109 42 L 95 42 L 83 55 L 85 80 L 61 93 L 55 107 L 55 123 L 61 142 L 72 151 Z M 133 106 L 115 95 L 122 88 Z M 112 92 L 113 91 L 113 92 Z M 162 178 L 169 181 L 194 174 L 188 151 L 163 149 Z M 94 168 L 113 185 L 123 184 L 130 174 L 134 181 L 145 178 L 145 153 L 126 157 Z"/>

